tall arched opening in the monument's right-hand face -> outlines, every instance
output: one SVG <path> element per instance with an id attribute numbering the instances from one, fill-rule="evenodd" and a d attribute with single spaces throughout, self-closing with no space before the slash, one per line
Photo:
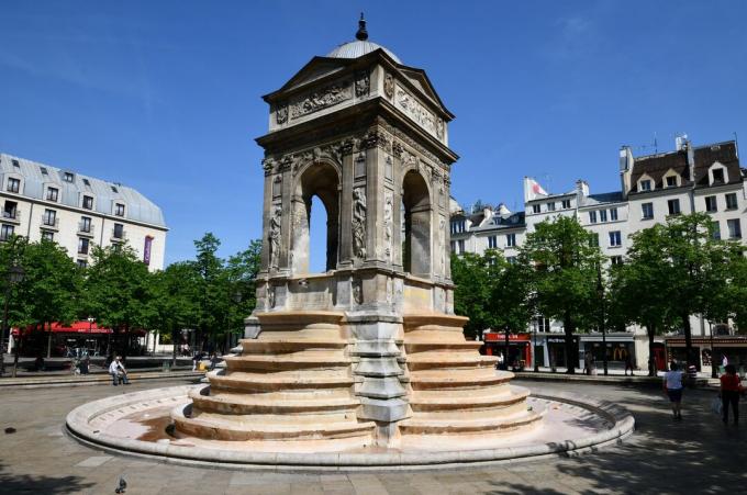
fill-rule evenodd
<path id="1" fill-rule="evenodd" d="M 431 196 L 428 187 L 415 170 L 402 181 L 403 238 L 402 266 L 416 277 L 431 275 Z"/>

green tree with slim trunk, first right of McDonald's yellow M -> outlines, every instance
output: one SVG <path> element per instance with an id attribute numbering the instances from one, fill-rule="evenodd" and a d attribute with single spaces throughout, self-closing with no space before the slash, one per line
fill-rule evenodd
<path id="1" fill-rule="evenodd" d="M 625 265 L 610 270 L 609 307 L 623 325 L 636 323 L 646 328 L 648 374 L 655 376 L 654 339 L 680 322 L 672 307 L 677 294 L 667 259 L 667 229 L 655 225 L 634 234 L 632 240 Z"/>

